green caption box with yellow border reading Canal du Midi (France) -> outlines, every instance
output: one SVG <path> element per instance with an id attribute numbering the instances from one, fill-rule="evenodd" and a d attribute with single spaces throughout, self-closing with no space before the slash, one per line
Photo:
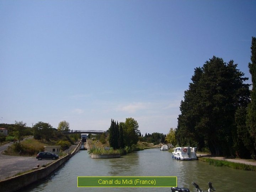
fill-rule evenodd
<path id="1" fill-rule="evenodd" d="M 78 187 L 177 187 L 177 177 L 78 177 Z"/>

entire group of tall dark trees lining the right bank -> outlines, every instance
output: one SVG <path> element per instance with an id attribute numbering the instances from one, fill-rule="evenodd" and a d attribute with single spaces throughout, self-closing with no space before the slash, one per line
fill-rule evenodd
<path id="1" fill-rule="evenodd" d="M 179 145 L 209 148 L 215 155 L 256 159 L 256 38 L 252 37 L 250 84 L 234 64 L 213 56 L 194 69 L 175 132 Z"/>

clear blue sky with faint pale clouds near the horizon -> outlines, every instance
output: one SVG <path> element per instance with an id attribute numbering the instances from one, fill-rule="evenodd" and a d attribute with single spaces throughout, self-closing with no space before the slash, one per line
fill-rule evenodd
<path id="1" fill-rule="evenodd" d="M 142 134 L 166 134 L 213 55 L 251 79 L 255 10 L 255 0 L 0 0 L 0 123 L 107 130 L 132 117 Z"/>

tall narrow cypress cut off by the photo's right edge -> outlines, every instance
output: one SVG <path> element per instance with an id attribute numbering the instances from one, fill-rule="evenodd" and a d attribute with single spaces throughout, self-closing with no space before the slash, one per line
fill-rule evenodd
<path id="1" fill-rule="evenodd" d="M 252 76 L 251 102 L 247 110 L 247 127 L 251 137 L 254 139 L 254 148 L 256 150 L 256 38 L 252 37 L 251 44 L 251 63 L 249 69 Z M 254 158 L 255 154 L 254 154 Z"/>

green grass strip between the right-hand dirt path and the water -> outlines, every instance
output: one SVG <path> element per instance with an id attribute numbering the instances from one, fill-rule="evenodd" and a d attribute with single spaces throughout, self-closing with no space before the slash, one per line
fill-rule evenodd
<path id="1" fill-rule="evenodd" d="M 208 162 L 209 165 L 214 165 L 217 167 L 231 167 L 233 169 L 256 171 L 256 166 L 254 165 L 246 165 L 242 163 L 216 160 L 216 159 L 210 159 L 210 158 L 198 158 L 198 160 Z"/>

